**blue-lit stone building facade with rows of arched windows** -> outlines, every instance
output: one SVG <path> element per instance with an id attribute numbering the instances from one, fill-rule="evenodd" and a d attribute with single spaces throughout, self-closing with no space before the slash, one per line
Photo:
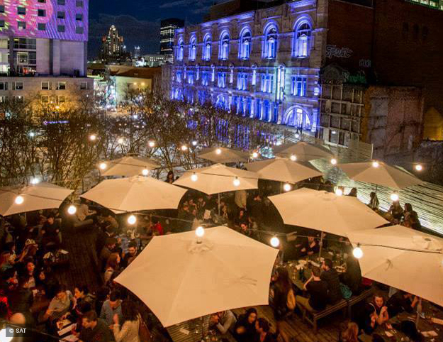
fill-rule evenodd
<path id="1" fill-rule="evenodd" d="M 317 131 L 325 4 L 288 2 L 176 30 L 171 98 Z"/>

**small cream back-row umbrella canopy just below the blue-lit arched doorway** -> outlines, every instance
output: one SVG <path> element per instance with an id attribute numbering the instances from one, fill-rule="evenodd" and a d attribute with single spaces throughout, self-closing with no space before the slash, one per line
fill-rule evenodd
<path id="1" fill-rule="evenodd" d="M 309 161 L 320 158 L 333 158 L 333 153 L 322 145 L 299 141 L 274 147 L 274 154 L 288 157 L 295 155 L 297 160 Z"/>

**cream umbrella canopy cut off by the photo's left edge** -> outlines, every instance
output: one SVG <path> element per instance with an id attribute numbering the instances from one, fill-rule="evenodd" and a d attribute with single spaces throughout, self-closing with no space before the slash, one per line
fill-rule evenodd
<path id="1" fill-rule="evenodd" d="M 50 183 L 39 183 L 26 187 L 0 188 L 0 215 L 8 216 L 27 211 L 58 208 L 74 190 Z M 21 196 L 23 202 L 16 203 Z"/>

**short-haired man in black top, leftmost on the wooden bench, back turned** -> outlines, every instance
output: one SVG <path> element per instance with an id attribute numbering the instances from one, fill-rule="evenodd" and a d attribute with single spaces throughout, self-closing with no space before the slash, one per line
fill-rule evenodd
<path id="1" fill-rule="evenodd" d="M 312 275 L 303 285 L 303 289 L 308 292 L 309 298 L 297 296 L 296 303 L 305 307 L 309 311 L 321 311 L 325 309 L 327 297 L 327 282 L 320 279 L 320 267 L 313 267 Z"/>

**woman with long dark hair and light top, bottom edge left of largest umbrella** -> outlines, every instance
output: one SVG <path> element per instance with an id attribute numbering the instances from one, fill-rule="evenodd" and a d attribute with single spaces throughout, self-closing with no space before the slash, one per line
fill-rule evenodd
<path id="1" fill-rule="evenodd" d="M 140 342 L 140 336 L 138 336 L 140 317 L 135 304 L 130 300 L 124 300 L 121 303 L 121 314 L 123 316 L 121 322 L 118 314 L 113 316 L 113 333 L 116 342 Z"/>

